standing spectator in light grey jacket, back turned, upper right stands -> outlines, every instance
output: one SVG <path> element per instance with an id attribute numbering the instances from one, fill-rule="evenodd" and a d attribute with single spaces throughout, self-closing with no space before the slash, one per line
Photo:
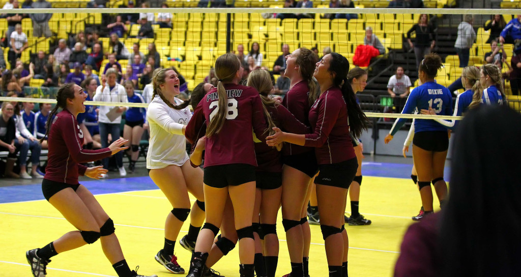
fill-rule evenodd
<path id="1" fill-rule="evenodd" d="M 470 58 L 470 49 L 476 40 L 476 31 L 472 27 L 474 18 L 472 15 L 466 14 L 463 16 L 463 21 L 457 27 L 457 38 L 454 47 L 456 53 L 460 57 L 460 67 L 466 67 L 468 65 L 468 59 Z"/>

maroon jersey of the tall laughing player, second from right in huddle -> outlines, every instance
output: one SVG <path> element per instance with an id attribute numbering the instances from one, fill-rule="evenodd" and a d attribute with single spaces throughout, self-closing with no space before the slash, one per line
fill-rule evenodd
<path id="1" fill-rule="evenodd" d="M 282 105 L 292 113 L 296 119 L 309 126 L 309 87 L 306 81 L 300 81 L 295 84 L 288 92 Z M 311 147 L 300 146 L 296 144 L 284 144 L 282 153 L 284 156 L 302 154 L 308 151 L 313 151 Z"/>

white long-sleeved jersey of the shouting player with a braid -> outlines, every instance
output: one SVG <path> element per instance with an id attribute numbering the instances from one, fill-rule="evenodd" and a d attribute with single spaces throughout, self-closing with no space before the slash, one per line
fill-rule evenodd
<path id="1" fill-rule="evenodd" d="M 176 105 L 183 101 L 175 98 Z M 175 110 L 169 107 L 157 95 L 146 111 L 146 119 L 150 126 L 150 140 L 146 154 L 146 168 L 157 169 L 168 165 L 181 166 L 188 161 L 187 142 L 182 128 L 192 118 L 188 107 Z"/>

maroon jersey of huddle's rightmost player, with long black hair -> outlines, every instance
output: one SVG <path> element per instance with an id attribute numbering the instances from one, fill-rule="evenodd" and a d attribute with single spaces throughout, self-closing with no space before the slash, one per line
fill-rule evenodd
<path id="1" fill-rule="evenodd" d="M 348 123 L 348 108 L 342 91 L 333 86 L 309 110 L 313 134 L 306 135 L 305 146 L 313 146 L 318 164 L 339 163 L 355 157 Z"/>

